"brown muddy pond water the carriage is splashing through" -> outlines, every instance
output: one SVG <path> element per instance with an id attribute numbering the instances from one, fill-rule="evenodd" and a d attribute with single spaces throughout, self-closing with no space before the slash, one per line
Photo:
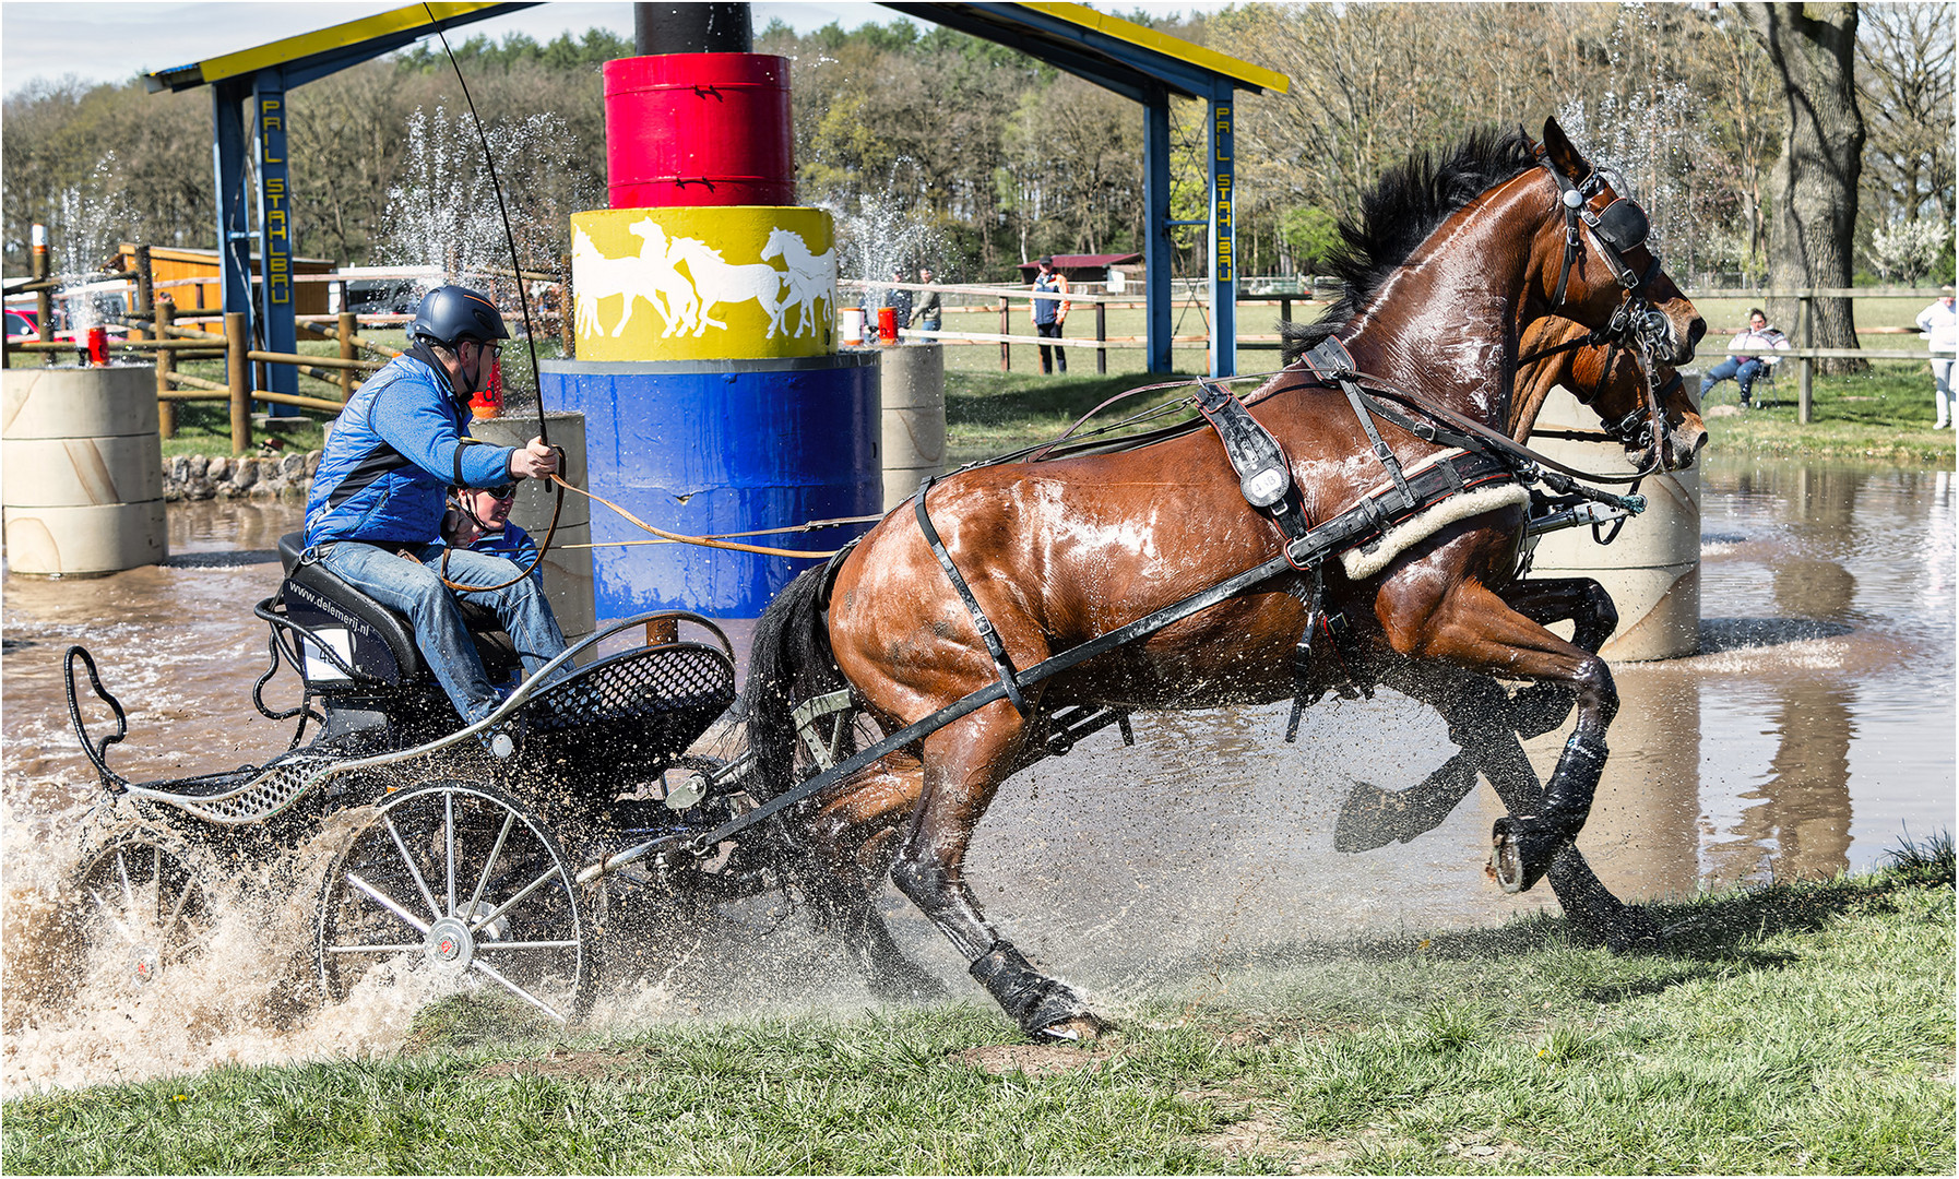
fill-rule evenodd
<path id="1" fill-rule="evenodd" d="M 1624 709 L 1581 838 L 1599 873 L 1630 899 L 1685 895 L 1863 868 L 1904 830 L 1951 830 L 1951 476 L 1716 460 L 1702 486 L 1704 652 L 1614 668 Z M 276 539 L 292 527 L 294 507 L 172 505 L 168 566 L 6 580 L 0 1091 L 402 1042 L 421 1001 L 411 987 L 374 987 L 325 1014 L 292 1003 L 311 917 L 300 877 L 319 860 L 304 848 L 292 879 L 253 889 L 243 862 L 227 873 L 223 895 L 257 899 L 223 913 L 196 969 L 39 999 L 61 971 L 55 885 L 72 868 L 69 832 L 98 791 L 69 734 L 61 650 L 86 642 L 129 707 L 129 740 L 112 758 L 131 778 L 263 760 L 290 727 L 249 703 L 266 666 L 251 605 L 274 590 Z M 268 703 L 294 703 L 290 684 Z M 1007 936 L 1115 1013 L 1246 950 L 1555 907 L 1548 887 L 1505 897 L 1485 879 L 1501 811 L 1483 785 L 1412 842 L 1334 850 L 1334 815 L 1356 783 L 1412 785 L 1454 752 L 1432 713 L 1383 693 L 1309 711 L 1291 746 L 1283 725 L 1283 705 L 1138 717 L 1132 750 L 1109 731 L 1017 776 L 970 856 L 981 901 Z M 1555 736 L 1532 744 L 1540 772 L 1555 752 Z M 950 948 L 895 893 L 885 901 L 901 942 L 956 993 L 972 991 Z M 864 1003 L 780 901 L 695 942 L 662 944 L 645 973 L 617 971 L 599 1014 Z"/>

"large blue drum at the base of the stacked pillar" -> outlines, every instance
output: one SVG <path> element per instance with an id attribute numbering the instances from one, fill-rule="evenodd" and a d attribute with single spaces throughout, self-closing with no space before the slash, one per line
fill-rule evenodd
<path id="1" fill-rule="evenodd" d="M 648 525 L 690 537 L 876 515 L 878 356 L 774 360 L 547 360 L 549 409 L 586 415 L 590 488 Z M 870 525 L 750 537 L 829 552 Z M 646 533 L 592 507 L 599 619 L 692 609 L 752 619 L 811 562 L 693 544 L 621 544 Z"/>

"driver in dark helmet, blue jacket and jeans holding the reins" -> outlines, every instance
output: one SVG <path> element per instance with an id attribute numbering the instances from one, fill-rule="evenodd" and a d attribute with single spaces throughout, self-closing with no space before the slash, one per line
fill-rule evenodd
<path id="1" fill-rule="evenodd" d="M 503 317 L 482 294 L 439 286 L 423 296 L 407 329 L 407 353 L 368 378 L 341 411 L 306 497 L 306 556 L 415 629 L 435 680 L 466 725 L 500 703 L 468 637 L 456 597 L 496 611 L 517 646 L 525 674 L 564 650 L 545 591 L 502 556 L 451 548 L 441 541 L 449 488 L 502 488 L 558 470 L 558 456 L 531 439 L 523 448 L 490 447 L 464 433 L 468 400 L 490 382 L 509 339 Z M 451 590 L 462 586 L 502 590 Z"/>

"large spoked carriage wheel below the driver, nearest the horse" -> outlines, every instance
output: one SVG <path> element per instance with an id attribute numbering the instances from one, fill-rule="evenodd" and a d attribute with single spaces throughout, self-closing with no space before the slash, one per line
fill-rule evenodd
<path id="1" fill-rule="evenodd" d="M 502 791 L 454 781 L 406 789 L 327 872 L 321 987 L 339 1003 L 368 969 L 406 956 L 572 1022 L 596 991 L 576 873 L 543 823 Z"/>

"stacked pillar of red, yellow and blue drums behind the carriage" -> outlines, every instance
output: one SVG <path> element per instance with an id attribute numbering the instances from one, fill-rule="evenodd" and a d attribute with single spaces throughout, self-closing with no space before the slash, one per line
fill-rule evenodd
<path id="1" fill-rule="evenodd" d="M 788 78 L 754 53 L 605 65 L 613 208 L 572 215 L 578 358 L 541 386 L 586 417 L 592 490 L 641 521 L 827 554 L 864 525 L 768 529 L 880 511 L 878 360 L 838 353 L 833 223 L 793 204 Z M 594 511 L 599 619 L 756 617 L 817 560 L 646 541 Z"/>

